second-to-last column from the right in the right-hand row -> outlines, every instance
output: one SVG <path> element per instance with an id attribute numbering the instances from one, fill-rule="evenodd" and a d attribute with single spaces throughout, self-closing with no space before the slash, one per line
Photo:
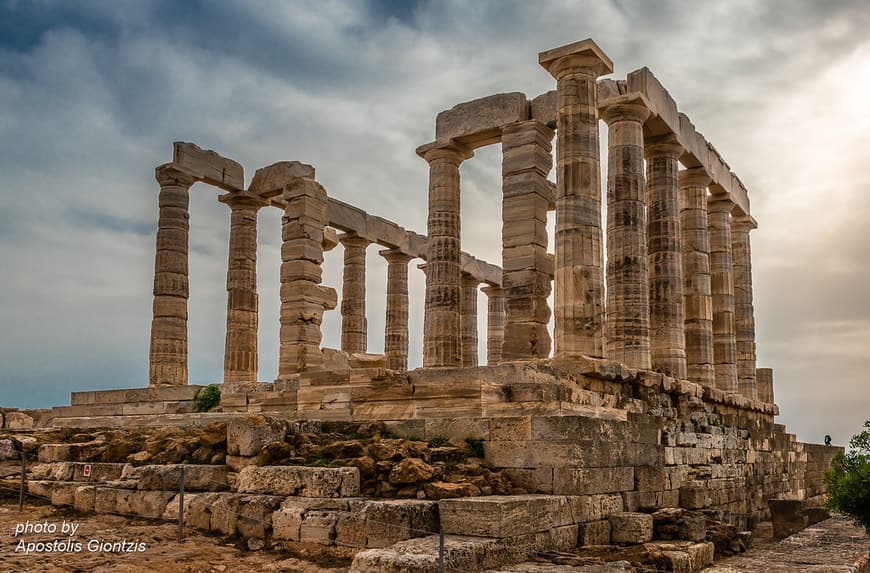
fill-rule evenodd
<path id="1" fill-rule="evenodd" d="M 734 203 L 715 195 L 707 200 L 710 229 L 710 290 L 713 296 L 713 360 L 716 388 L 737 392 L 737 337 L 734 325 L 734 275 L 731 210 Z"/>

